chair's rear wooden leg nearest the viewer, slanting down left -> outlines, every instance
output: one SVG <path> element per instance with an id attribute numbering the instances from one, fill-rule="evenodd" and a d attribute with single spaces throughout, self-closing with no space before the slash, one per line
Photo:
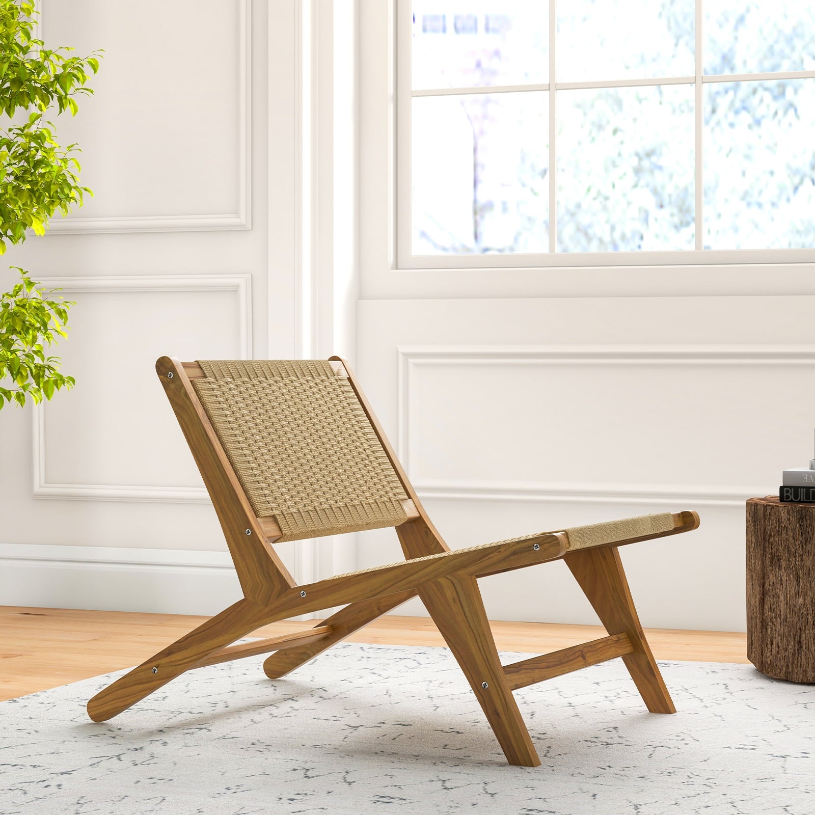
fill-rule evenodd
<path id="1" fill-rule="evenodd" d="M 94 721 L 117 716 L 224 645 L 286 616 L 270 615 L 249 600 L 237 601 L 96 694 L 88 703 L 88 716 Z"/>

